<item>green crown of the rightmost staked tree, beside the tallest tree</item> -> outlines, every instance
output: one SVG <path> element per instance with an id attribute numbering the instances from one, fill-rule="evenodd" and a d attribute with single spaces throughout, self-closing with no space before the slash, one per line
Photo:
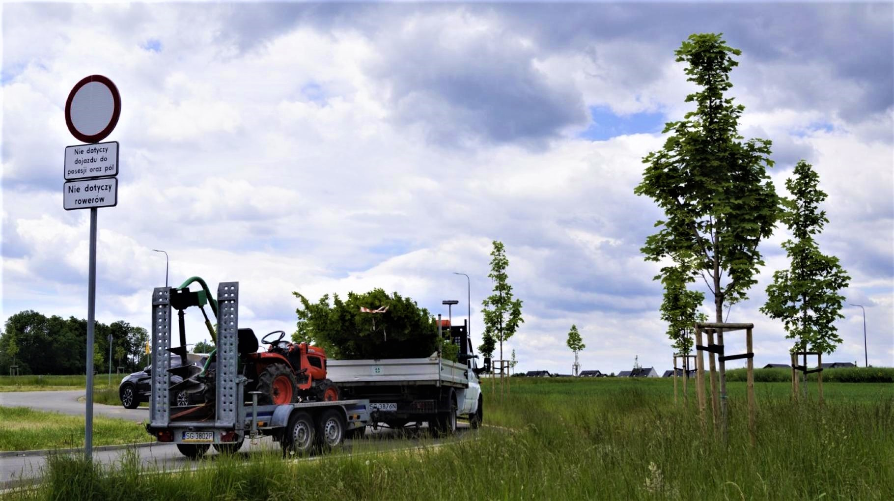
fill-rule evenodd
<path id="1" fill-rule="evenodd" d="M 845 298 L 839 291 L 848 286 L 850 276 L 838 258 L 823 255 L 814 241 L 814 235 L 829 222 L 826 212 L 819 209 L 826 199 L 819 182 L 819 175 L 804 160 L 795 166 L 794 178 L 786 180 L 794 196 L 783 201 L 782 215 L 794 236 L 782 243 L 790 265 L 773 274 L 761 311 L 783 321 L 786 337 L 796 340 L 792 351 L 809 347 L 811 352 L 831 353 L 841 343 L 834 322 L 844 318 L 839 311 Z"/>

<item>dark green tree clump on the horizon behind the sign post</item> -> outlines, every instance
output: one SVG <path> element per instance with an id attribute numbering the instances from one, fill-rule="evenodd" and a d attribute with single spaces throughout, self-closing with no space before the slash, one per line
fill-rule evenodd
<path id="1" fill-rule="evenodd" d="M 117 321 L 94 324 L 94 367 L 108 362 L 108 336 L 112 335 L 112 353 L 126 370 L 141 367 L 142 346 L 148 340 L 146 329 Z M 25 310 L 6 319 L 0 335 L 0 374 L 9 366 L 19 366 L 21 374 L 83 374 L 86 370 L 87 320 L 46 317 Z"/>

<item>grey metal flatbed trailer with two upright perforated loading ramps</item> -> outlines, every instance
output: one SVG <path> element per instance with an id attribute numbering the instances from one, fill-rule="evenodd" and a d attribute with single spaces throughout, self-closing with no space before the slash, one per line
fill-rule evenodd
<path id="1" fill-rule="evenodd" d="M 148 433 L 159 442 L 176 444 L 182 454 L 197 458 L 214 446 L 235 452 L 246 437 L 271 436 L 283 452 L 308 454 L 338 446 L 353 429 L 364 429 L 375 412 L 368 399 L 258 405 L 257 392 L 246 401 L 248 378 L 238 374 L 239 283 L 217 288 L 217 349 L 214 399 L 199 405 L 176 406 L 170 396 L 172 315 L 170 287 L 152 295 L 152 393 Z M 256 344 L 257 346 L 257 344 Z M 211 381 L 209 381 L 210 383 Z"/>

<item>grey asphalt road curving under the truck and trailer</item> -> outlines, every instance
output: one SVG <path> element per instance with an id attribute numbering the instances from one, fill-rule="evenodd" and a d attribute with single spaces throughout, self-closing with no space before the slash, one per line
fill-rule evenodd
<path id="1" fill-rule="evenodd" d="M 56 411 L 73 415 L 84 415 L 86 412 L 84 402 L 78 400 L 78 397 L 84 395 L 83 390 L 77 391 L 41 391 L 41 392 L 4 392 L 0 393 L 0 405 L 4 406 L 20 406 L 31 407 L 41 411 Z M 105 405 L 95 403 L 93 406 L 94 415 L 109 416 L 126 420 L 135 420 L 143 422 L 148 420 L 148 408 L 124 409 L 120 405 Z M 468 432 L 467 423 L 457 423 L 458 434 L 460 437 Z M 376 441 L 382 446 L 383 450 L 392 450 L 398 448 L 406 448 L 419 445 L 419 440 L 415 437 L 417 431 L 411 430 L 405 435 L 401 435 L 394 430 L 378 429 L 375 432 L 367 433 L 366 437 L 345 441 L 345 449 L 350 452 L 361 441 Z M 147 434 L 147 441 L 151 441 L 153 437 Z M 435 443 L 440 441 L 435 440 Z M 427 445 L 431 445 L 430 439 L 426 440 Z M 144 466 L 164 468 L 166 470 L 195 468 L 207 461 L 213 461 L 216 454 L 214 449 L 210 449 L 207 459 L 202 461 L 191 461 L 186 458 L 177 446 L 173 444 L 157 443 L 152 446 L 135 447 L 134 450 L 139 454 L 140 463 Z M 252 453 L 260 451 L 279 451 L 280 446 L 274 442 L 271 437 L 263 437 L 256 441 L 254 445 L 246 441 L 242 446 L 240 454 L 249 458 Z M 368 450 L 363 447 L 363 450 Z M 114 449 L 108 451 L 94 451 L 93 458 L 99 463 L 115 463 L 126 449 Z M 41 470 L 46 464 L 46 456 L 44 455 L 23 455 L 0 457 L 0 490 L 3 488 L 13 487 L 18 480 L 32 479 L 40 476 Z"/>

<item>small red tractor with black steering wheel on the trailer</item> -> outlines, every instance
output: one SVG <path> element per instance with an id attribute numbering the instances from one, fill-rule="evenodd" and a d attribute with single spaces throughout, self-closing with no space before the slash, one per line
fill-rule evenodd
<path id="1" fill-rule="evenodd" d="M 240 330 L 240 344 L 257 337 L 251 329 Z M 248 332 L 246 332 L 248 331 Z M 274 330 L 261 339 L 266 352 L 242 352 L 243 374 L 251 379 L 248 391 L 259 391 L 258 403 L 292 403 L 338 400 L 338 387 L 326 378 L 326 352 L 307 343 L 283 341 L 285 331 Z"/>

